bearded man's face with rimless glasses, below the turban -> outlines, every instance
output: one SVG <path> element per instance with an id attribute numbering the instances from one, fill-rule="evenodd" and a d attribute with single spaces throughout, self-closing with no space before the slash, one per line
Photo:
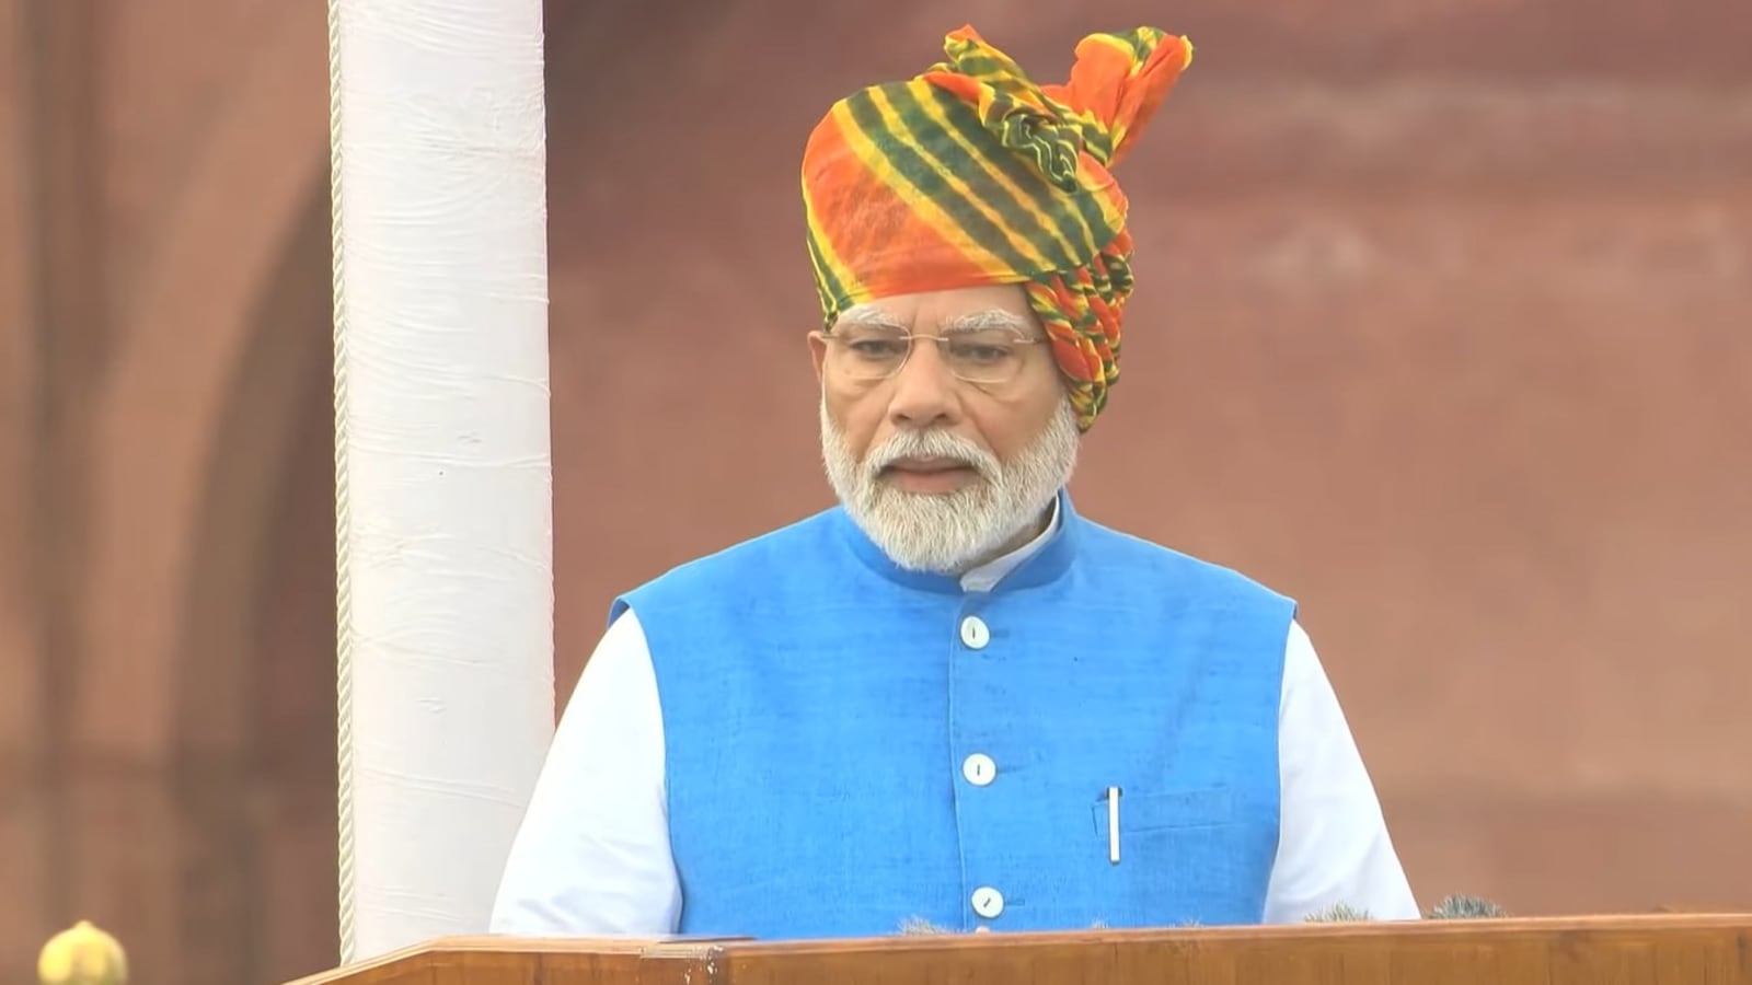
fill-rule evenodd
<path id="1" fill-rule="evenodd" d="M 1014 365 L 995 373 L 1002 382 L 986 380 L 992 359 L 958 363 L 964 349 L 951 342 L 946 356 L 929 338 L 915 338 L 897 372 L 872 379 L 869 361 L 848 349 L 869 330 L 948 338 L 1009 330 L 1028 342 L 1011 349 Z M 1077 428 L 1020 286 L 858 305 L 832 333 L 813 333 L 809 347 L 827 478 L 895 564 L 960 575 L 1041 529 L 1076 468 Z"/>

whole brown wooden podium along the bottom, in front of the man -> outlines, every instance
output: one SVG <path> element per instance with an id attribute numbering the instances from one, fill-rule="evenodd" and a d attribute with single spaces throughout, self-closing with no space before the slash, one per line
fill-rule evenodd
<path id="1" fill-rule="evenodd" d="M 452 938 L 291 985 L 1752 985 L 1752 913 L 846 941 Z"/>

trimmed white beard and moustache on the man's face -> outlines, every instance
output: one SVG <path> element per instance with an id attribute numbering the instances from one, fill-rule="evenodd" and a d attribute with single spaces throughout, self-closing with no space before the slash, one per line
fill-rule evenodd
<path id="1" fill-rule="evenodd" d="M 913 571 L 962 575 L 990 561 L 1041 521 L 1077 463 L 1077 419 L 1060 401 L 1053 419 L 1013 461 L 948 431 L 901 431 L 858 461 L 822 400 L 822 461 L 827 480 L 853 522 L 895 564 Z M 979 480 L 955 492 L 906 492 L 881 480 L 904 457 L 957 459 Z"/>

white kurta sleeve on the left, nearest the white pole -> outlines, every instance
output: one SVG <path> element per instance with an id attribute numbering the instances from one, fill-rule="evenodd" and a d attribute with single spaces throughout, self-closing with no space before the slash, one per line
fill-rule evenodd
<path id="1" fill-rule="evenodd" d="M 491 929 L 664 936 L 680 915 L 657 677 L 645 629 L 629 610 L 603 634 L 561 717 L 512 843 Z"/>

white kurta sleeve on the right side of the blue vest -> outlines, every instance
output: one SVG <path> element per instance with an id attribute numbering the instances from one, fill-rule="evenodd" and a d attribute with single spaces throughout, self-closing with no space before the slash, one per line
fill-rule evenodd
<path id="1" fill-rule="evenodd" d="M 1265 922 L 1293 924 L 1335 904 L 1375 920 L 1416 920 L 1417 901 L 1351 726 L 1314 643 L 1295 622 L 1284 648 L 1277 743 L 1281 829 Z"/>

